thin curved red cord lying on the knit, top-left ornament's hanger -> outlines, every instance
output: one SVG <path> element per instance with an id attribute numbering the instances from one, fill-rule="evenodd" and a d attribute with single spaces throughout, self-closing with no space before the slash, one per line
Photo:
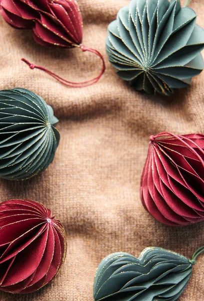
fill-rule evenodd
<path id="1" fill-rule="evenodd" d="M 39 69 L 39 70 L 42 70 L 44 72 L 46 72 L 47 74 L 49 74 L 50 76 L 52 76 L 53 78 L 55 78 L 57 81 L 59 81 L 60 83 L 64 84 L 65 86 L 68 86 L 68 87 L 72 87 L 72 88 L 82 88 L 82 87 L 87 87 L 87 86 L 90 86 L 94 83 L 96 83 L 100 77 L 102 76 L 102 74 L 104 73 L 105 71 L 105 62 L 104 62 L 104 59 L 102 57 L 102 55 L 99 53 L 99 51 L 95 50 L 95 49 L 92 49 L 92 48 L 87 48 L 85 46 L 83 46 L 82 44 L 78 45 L 78 47 L 82 50 L 82 51 L 89 51 L 89 52 L 92 52 L 94 53 L 95 55 L 97 55 L 101 60 L 102 60 L 102 68 L 101 68 L 101 71 L 99 73 L 98 76 L 96 76 L 95 78 L 93 79 L 90 79 L 90 80 L 87 80 L 87 81 L 83 81 L 83 82 L 71 82 L 71 81 L 68 81 L 60 76 L 58 76 L 57 74 L 55 74 L 54 72 L 51 72 L 50 70 L 44 68 L 44 67 L 41 67 L 41 66 L 37 66 L 37 65 L 34 65 L 34 64 L 31 64 L 30 62 L 28 62 L 26 59 L 21 59 L 21 61 L 25 62 L 29 67 L 30 69 Z"/>

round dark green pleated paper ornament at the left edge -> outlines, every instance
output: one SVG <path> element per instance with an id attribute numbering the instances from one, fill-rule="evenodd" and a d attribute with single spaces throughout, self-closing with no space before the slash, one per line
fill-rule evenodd
<path id="1" fill-rule="evenodd" d="M 0 177 L 24 180 L 52 162 L 59 143 L 51 106 L 26 89 L 0 91 Z"/>

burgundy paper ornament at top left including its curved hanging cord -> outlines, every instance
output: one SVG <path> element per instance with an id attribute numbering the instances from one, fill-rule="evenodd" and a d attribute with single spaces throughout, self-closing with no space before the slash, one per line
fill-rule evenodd
<path id="1" fill-rule="evenodd" d="M 87 48 L 82 43 L 82 17 L 75 0 L 0 0 L 0 13 L 4 20 L 17 29 L 32 29 L 34 40 L 48 47 L 80 48 L 99 56 L 102 69 L 91 80 L 75 83 L 67 81 L 55 73 L 30 64 L 22 59 L 31 69 L 45 71 L 59 82 L 70 87 L 85 87 L 96 83 L 105 71 L 102 55 L 95 49 Z"/>

